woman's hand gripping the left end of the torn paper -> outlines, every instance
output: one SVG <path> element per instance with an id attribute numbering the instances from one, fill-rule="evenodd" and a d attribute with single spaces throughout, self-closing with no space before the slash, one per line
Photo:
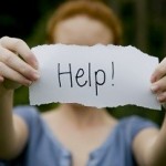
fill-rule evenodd
<path id="1" fill-rule="evenodd" d="M 17 38 L 0 39 L 0 93 L 20 85 L 29 86 L 39 79 L 38 62 L 24 41 Z"/>

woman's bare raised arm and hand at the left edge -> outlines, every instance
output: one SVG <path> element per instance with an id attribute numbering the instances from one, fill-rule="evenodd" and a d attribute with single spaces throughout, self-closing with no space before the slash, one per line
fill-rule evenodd
<path id="1" fill-rule="evenodd" d="M 15 157 L 28 138 L 23 120 L 12 114 L 13 92 L 39 77 L 37 60 L 20 39 L 0 39 L 0 158 Z"/>

